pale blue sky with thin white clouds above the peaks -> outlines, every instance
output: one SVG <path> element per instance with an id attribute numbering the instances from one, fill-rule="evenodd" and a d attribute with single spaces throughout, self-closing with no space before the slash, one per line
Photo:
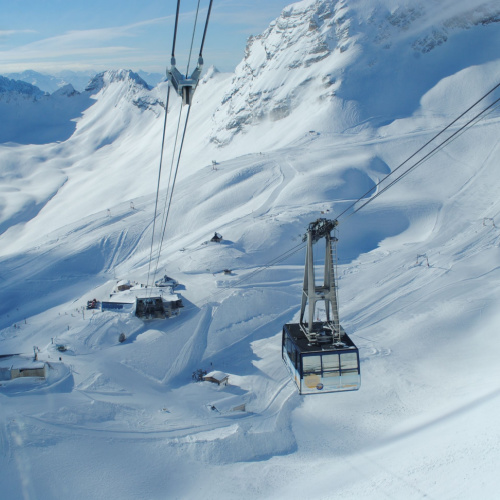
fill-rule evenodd
<path id="1" fill-rule="evenodd" d="M 197 3 L 181 1 L 176 50 L 181 67 L 187 62 Z M 261 33 L 290 3 L 214 0 L 205 64 L 233 71 L 248 36 Z M 117 68 L 163 73 L 170 65 L 176 4 L 176 0 L 0 0 L 0 74 Z M 200 0 L 200 21 L 207 6 L 208 0 Z M 197 34 L 201 31 L 200 22 Z"/>

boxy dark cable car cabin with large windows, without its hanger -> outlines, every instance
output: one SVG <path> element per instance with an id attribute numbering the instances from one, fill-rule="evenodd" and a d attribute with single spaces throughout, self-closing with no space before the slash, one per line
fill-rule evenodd
<path id="1" fill-rule="evenodd" d="M 315 323 L 317 330 L 320 323 Z M 298 323 L 283 326 L 282 358 L 299 394 L 356 391 L 361 385 L 359 352 L 341 327 L 341 339 L 311 343 Z M 325 340 L 331 336 L 325 335 Z"/>

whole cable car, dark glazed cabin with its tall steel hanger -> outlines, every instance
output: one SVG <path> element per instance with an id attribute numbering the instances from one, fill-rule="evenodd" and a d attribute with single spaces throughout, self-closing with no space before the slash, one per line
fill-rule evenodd
<path id="1" fill-rule="evenodd" d="M 337 224 L 327 219 L 309 224 L 304 236 L 307 251 L 300 321 L 283 326 L 282 357 L 299 394 L 356 391 L 361 385 L 358 348 L 339 322 L 332 249 L 332 241 L 336 243 L 337 238 L 331 236 Z M 324 283 L 316 286 L 313 243 L 321 238 L 326 240 Z M 325 303 L 326 321 L 313 321 L 318 301 Z"/>

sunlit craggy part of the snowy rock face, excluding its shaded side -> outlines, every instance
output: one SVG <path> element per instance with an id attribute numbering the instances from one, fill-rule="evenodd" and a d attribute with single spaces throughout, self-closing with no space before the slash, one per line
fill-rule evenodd
<path id="1" fill-rule="evenodd" d="M 333 98 L 336 65 L 352 44 L 347 13 L 344 1 L 300 2 L 251 37 L 214 115 L 212 140 L 224 144 L 248 125 L 286 118 L 306 93 L 318 102 Z"/>

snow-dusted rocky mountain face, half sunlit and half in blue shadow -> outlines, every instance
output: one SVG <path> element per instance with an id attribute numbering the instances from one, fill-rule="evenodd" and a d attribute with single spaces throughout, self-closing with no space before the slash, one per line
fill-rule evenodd
<path id="1" fill-rule="evenodd" d="M 411 113 L 441 78 L 498 57 L 499 20 L 500 6 L 494 2 L 465 10 L 463 4 L 437 0 L 411 6 L 389 0 L 290 5 L 248 40 L 214 113 L 211 140 L 224 145 L 253 125 L 291 120 L 304 105 L 319 127 L 333 131 L 374 119 L 384 123 L 396 109 Z M 468 37 L 477 30 L 482 36 Z M 474 42 L 467 46 L 469 38 Z M 483 47 L 477 42 L 481 38 Z M 457 44 L 466 47 L 465 54 Z M 377 99 L 388 88 L 393 104 Z M 336 118 L 329 120 L 328 114 Z"/>

